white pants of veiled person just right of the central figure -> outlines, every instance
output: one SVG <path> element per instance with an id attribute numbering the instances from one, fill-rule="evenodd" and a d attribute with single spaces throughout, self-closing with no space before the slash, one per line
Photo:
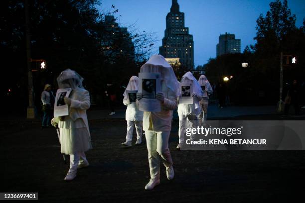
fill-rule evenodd
<path id="1" fill-rule="evenodd" d="M 186 118 L 188 120 L 186 121 Z M 198 118 L 196 115 L 179 115 L 179 143 L 184 143 L 185 138 L 185 128 L 196 128 L 198 126 Z M 186 127 L 185 127 L 186 125 Z"/>

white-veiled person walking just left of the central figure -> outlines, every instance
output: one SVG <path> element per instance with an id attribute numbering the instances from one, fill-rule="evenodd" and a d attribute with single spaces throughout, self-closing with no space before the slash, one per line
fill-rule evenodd
<path id="1" fill-rule="evenodd" d="M 132 146 L 134 125 L 136 126 L 137 131 L 137 141 L 136 144 L 142 143 L 142 122 L 143 122 L 143 111 L 139 110 L 139 102 L 131 103 L 128 99 L 126 91 L 128 90 L 139 90 L 139 78 L 137 76 L 132 76 L 129 80 L 127 88 L 123 94 L 124 105 L 127 105 L 125 118 L 127 120 L 127 135 L 126 142 L 123 142 L 122 145 Z M 136 98 L 135 98 L 136 99 Z"/>

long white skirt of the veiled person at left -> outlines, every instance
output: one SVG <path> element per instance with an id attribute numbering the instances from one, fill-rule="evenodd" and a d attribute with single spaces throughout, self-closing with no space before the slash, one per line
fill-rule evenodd
<path id="1" fill-rule="evenodd" d="M 86 127 L 82 128 L 59 128 L 60 151 L 62 154 L 75 154 L 92 149 L 91 139 Z"/>

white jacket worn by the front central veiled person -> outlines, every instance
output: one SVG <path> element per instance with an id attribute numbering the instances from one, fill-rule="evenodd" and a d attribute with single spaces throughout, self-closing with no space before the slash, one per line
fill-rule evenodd
<path id="1" fill-rule="evenodd" d="M 144 112 L 143 117 L 143 130 L 153 131 L 170 131 L 171 130 L 171 118 L 172 110 L 177 108 L 176 93 L 165 86 L 165 83 L 161 83 L 162 92 L 164 94 L 164 102 L 161 104 L 160 112 Z"/>

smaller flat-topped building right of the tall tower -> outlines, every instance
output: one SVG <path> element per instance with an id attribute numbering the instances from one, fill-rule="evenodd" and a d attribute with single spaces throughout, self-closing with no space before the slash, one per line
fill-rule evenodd
<path id="1" fill-rule="evenodd" d="M 221 34 L 216 45 L 216 56 L 234 53 L 240 53 L 240 39 L 235 39 L 235 34 Z"/>

